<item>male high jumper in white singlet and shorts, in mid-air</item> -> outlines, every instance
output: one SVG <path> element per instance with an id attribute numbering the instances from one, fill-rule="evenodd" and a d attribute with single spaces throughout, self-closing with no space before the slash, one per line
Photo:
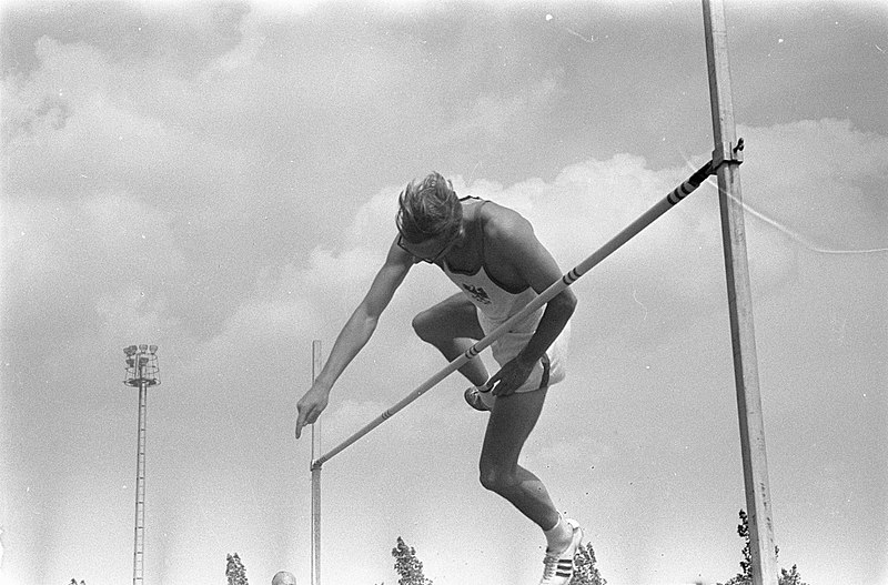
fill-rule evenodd
<path id="1" fill-rule="evenodd" d="M 531 223 L 492 201 L 456 196 L 450 181 L 430 173 L 401 193 L 397 236 L 361 304 L 336 337 L 312 387 L 299 401 L 296 437 L 326 407 L 330 391 L 370 340 L 380 315 L 410 269 L 437 265 L 461 292 L 413 320 L 420 337 L 453 361 L 562 276 Z M 518 465 L 548 387 L 564 379 L 563 352 L 576 306 L 569 289 L 516 323 L 491 349 L 500 371 L 481 360 L 460 369 L 472 386 L 465 400 L 490 411 L 481 450 L 481 483 L 536 523 L 546 537 L 541 585 L 566 585 L 583 531 L 563 517 L 543 482 Z"/>

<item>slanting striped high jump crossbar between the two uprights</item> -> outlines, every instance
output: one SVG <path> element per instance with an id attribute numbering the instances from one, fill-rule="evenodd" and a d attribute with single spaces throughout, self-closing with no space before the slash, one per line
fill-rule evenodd
<path id="1" fill-rule="evenodd" d="M 591 256 L 588 256 L 586 260 L 577 264 L 573 270 L 564 274 L 558 281 L 554 282 L 548 289 L 539 293 L 539 295 L 533 299 L 529 303 L 527 303 L 524 306 L 524 309 L 518 311 L 502 325 L 500 325 L 491 333 L 488 333 L 487 336 L 485 336 L 484 339 L 472 345 L 472 347 L 470 347 L 462 355 L 453 360 L 438 373 L 426 380 L 424 383 L 420 384 L 413 392 L 407 394 L 400 402 L 397 402 L 389 410 L 383 412 L 381 415 L 379 415 L 376 418 L 364 425 L 360 431 L 354 433 L 352 436 L 350 436 L 335 447 L 331 448 L 327 453 L 325 453 L 321 457 L 313 461 L 311 465 L 312 472 L 315 471 L 320 472 L 321 466 L 325 462 L 330 461 L 335 455 L 342 453 L 346 447 L 357 442 L 361 437 L 363 437 L 364 435 L 366 435 L 367 433 L 380 426 L 386 420 L 391 418 L 393 415 L 395 415 L 397 412 L 404 409 L 407 404 L 412 403 L 413 401 L 425 394 L 438 382 L 441 382 L 442 380 L 451 375 L 453 372 L 462 367 L 466 362 L 468 362 L 470 360 L 478 355 L 482 351 L 492 345 L 493 342 L 500 339 L 500 336 L 502 336 L 505 332 L 507 332 L 515 323 L 527 317 L 531 313 L 533 313 L 534 311 L 536 311 L 537 309 L 549 302 L 553 297 L 561 294 L 562 291 L 571 286 L 583 274 L 592 270 L 593 266 L 595 266 L 604 259 L 609 256 L 618 248 L 620 248 L 623 244 L 625 244 L 634 236 L 636 236 L 642 230 L 650 225 L 660 215 L 673 209 L 679 201 L 682 201 L 684 198 L 694 192 L 699 185 L 703 184 L 703 182 L 706 180 L 707 176 L 709 176 L 710 174 L 715 174 L 717 167 L 718 165 L 714 164 L 712 160 L 706 164 L 704 164 L 703 167 L 700 167 L 685 182 L 675 188 L 672 192 L 669 192 L 668 195 L 663 198 L 653 208 L 650 208 L 644 214 L 642 214 L 642 216 L 639 216 L 637 220 L 635 220 L 628 226 L 626 226 L 622 232 L 612 238 L 602 248 L 596 250 Z"/>

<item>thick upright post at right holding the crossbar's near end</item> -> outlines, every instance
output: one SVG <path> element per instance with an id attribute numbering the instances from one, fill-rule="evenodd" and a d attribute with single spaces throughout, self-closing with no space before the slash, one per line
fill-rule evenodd
<path id="1" fill-rule="evenodd" d="M 746 506 L 749 516 L 749 548 L 754 585 L 777 585 L 774 522 L 770 513 L 765 424 L 758 386 L 755 330 L 746 232 L 740 194 L 741 141 L 734 125 L 734 107 L 728 68 L 727 27 L 722 0 L 703 0 L 706 58 L 709 69 L 709 97 L 713 110 L 718 200 L 722 210 L 722 240 L 725 251 L 730 339 L 734 349 L 734 379 L 740 426 Z"/>

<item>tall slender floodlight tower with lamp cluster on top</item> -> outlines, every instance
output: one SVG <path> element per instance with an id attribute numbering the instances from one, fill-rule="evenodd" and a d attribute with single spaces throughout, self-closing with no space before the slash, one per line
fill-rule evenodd
<path id="1" fill-rule="evenodd" d="M 145 426 L 148 389 L 160 384 L 157 345 L 130 345 L 127 354 L 127 377 L 123 383 L 139 389 L 139 453 L 135 458 L 135 537 L 132 553 L 132 585 L 144 583 L 145 545 Z"/>

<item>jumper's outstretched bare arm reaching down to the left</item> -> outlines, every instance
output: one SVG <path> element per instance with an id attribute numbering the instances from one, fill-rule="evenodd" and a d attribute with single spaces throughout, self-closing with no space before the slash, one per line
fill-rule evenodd
<path id="1" fill-rule="evenodd" d="M 389 306 L 395 291 L 413 265 L 413 256 L 395 243 L 389 250 L 385 263 L 373 279 L 364 300 L 342 327 L 333 350 L 312 387 L 296 403 L 296 438 L 305 425 L 313 424 L 326 409 L 330 390 L 354 356 L 366 345 L 376 330 L 380 315 Z"/>

